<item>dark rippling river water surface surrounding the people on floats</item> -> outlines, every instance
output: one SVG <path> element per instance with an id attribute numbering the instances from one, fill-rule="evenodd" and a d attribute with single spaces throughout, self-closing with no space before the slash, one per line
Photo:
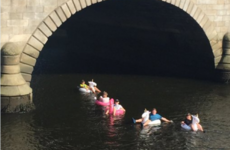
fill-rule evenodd
<path id="1" fill-rule="evenodd" d="M 101 90 L 120 99 L 127 110 L 124 116 L 106 116 L 102 107 L 94 104 L 94 96 L 81 95 L 77 91 L 76 85 L 81 79 L 90 80 L 92 76 Z M 98 74 L 40 75 L 34 76 L 34 82 L 37 109 L 28 114 L 2 114 L 4 150 L 230 148 L 228 85 Z M 131 123 L 132 117 L 139 118 L 144 108 L 152 107 L 174 123 L 144 129 Z M 199 113 L 206 133 L 181 129 L 180 121 L 187 112 Z"/>

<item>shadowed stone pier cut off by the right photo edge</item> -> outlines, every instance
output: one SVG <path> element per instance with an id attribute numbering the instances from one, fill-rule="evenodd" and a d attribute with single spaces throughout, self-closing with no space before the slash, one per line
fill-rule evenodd
<path id="1" fill-rule="evenodd" d="M 223 54 L 216 67 L 217 78 L 229 83 L 230 81 L 230 32 L 226 33 L 223 38 Z"/>

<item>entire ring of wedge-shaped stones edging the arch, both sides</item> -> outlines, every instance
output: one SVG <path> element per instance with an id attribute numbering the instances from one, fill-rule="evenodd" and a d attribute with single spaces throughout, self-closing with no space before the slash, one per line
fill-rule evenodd
<path id="1" fill-rule="evenodd" d="M 162 0 L 165 3 L 174 5 L 186 13 L 188 13 L 203 29 L 210 41 L 213 54 L 215 56 L 215 64 L 217 65 L 221 59 L 221 44 L 218 42 L 218 34 L 215 31 L 215 24 L 209 20 L 205 13 L 196 6 L 192 0 Z M 30 83 L 33 68 L 39 57 L 40 51 L 48 41 L 53 32 L 60 27 L 68 18 L 76 12 L 91 6 L 95 3 L 103 2 L 102 0 L 68 0 L 62 5 L 54 9 L 35 29 L 29 40 L 26 42 L 22 54 L 20 56 L 21 74 Z"/>

